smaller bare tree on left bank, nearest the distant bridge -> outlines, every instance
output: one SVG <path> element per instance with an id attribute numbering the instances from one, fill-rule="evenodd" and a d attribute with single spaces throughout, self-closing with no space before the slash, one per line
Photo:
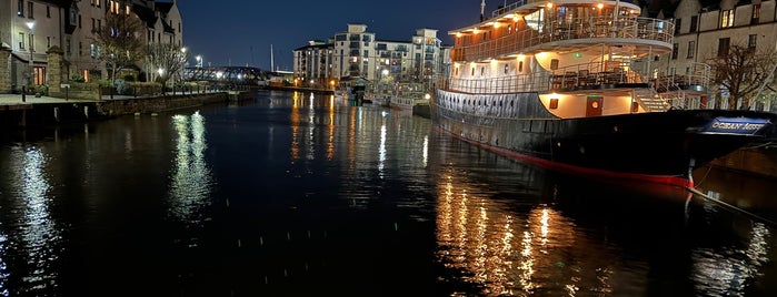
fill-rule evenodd
<path id="1" fill-rule="evenodd" d="M 181 75 L 186 62 L 189 61 L 189 53 L 186 48 L 170 43 L 155 43 L 149 47 L 149 63 L 153 65 L 159 74 L 159 83 L 162 84 L 162 92 L 167 81 L 175 75 Z"/>

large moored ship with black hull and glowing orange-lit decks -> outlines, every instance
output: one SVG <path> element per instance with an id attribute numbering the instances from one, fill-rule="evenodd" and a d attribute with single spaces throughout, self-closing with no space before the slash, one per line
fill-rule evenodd
<path id="1" fill-rule="evenodd" d="M 432 99 L 436 127 L 548 167 L 684 186 L 694 168 L 774 136 L 773 113 L 700 109 L 709 66 L 655 75 L 650 61 L 671 52 L 674 24 L 639 16 L 629 1 L 481 11 L 449 32 L 454 64 Z"/>

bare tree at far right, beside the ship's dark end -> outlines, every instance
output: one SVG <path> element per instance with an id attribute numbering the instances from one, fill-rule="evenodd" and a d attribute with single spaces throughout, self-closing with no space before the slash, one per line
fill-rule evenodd
<path id="1" fill-rule="evenodd" d="M 769 82 L 777 64 L 777 51 L 735 44 L 727 53 L 707 59 L 715 73 L 713 82 L 728 91 L 728 109 L 749 110 L 754 95 Z"/>

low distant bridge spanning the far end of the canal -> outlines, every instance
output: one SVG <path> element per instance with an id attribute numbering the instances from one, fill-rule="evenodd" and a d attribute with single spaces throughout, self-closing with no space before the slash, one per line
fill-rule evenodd
<path id="1" fill-rule="evenodd" d="M 183 69 L 187 81 L 207 81 L 213 84 L 267 86 L 272 73 L 252 66 L 188 66 Z"/>

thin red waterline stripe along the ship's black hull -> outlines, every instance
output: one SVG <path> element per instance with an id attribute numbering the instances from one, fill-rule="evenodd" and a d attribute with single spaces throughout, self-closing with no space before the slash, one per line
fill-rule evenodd
<path id="1" fill-rule="evenodd" d="M 448 131 L 445 131 L 440 129 L 439 126 L 435 126 L 435 130 L 437 130 L 440 133 L 448 134 L 452 136 L 454 139 L 461 140 L 464 142 L 484 147 L 486 150 L 492 151 L 495 153 L 498 153 L 500 155 L 505 155 L 511 158 L 516 160 L 521 160 L 531 164 L 539 165 L 541 167 L 550 168 L 550 170 L 562 170 L 566 172 L 570 173 L 576 173 L 576 174 L 585 174 L 585 175 L 597 175 L 597 176 L 602 176 L 602 177 L 612 177 L 612 178 L 619 178 L 619 180 L 626 180 L 626 181 L 639 181 L 639 182 L 649 182 L 649 183 L 658 183 L 658 184 L 666 184 L 666 185 L 674 185 L 674 186 L 681 186 L 681 187 L 694 187 L 694 181 L 690 178 L 686 177 L 679 177 L 679 176 L 673 176 L 673 175 L 648 175 L 648 174 L 637 174 L 637 173 L 626 173 L 626 172 L 614 172 L 614 171 L 605 171 L 605 170 L 597 170 L 597 168 L 588 168 L 588 167 L 581 167 L 581 166 L 576 166 L 571 164 L 566 164 L 566 163 L 559 163 L 559 162 L 554 162 L 550 160 L 541 158 L 541 157 L 536 157 L 536 156 L 530 156 L 530 155 L 525 155 L 520 154 L 510 150 L 492 146 L 489 144 L 476 142 L 466 137 L 461 137 L 459 135 L 456 135 L 454 133 L 450 133 Z"/>

